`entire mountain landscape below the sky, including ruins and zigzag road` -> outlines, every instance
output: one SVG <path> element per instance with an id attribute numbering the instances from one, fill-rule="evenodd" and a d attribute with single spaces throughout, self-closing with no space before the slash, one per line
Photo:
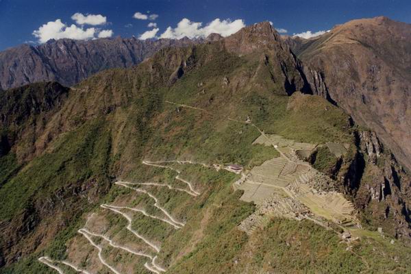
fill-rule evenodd
<path id="1" fill-rule="evenodd" d="M 1 52 L 0 273 L 406 273 L 410 34 Z"/>

